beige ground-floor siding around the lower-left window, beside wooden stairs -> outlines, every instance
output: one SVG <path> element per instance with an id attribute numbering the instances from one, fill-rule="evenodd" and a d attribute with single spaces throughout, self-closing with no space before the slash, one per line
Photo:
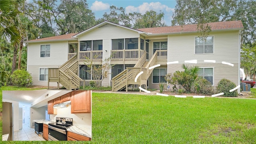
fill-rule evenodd
<path id="1" fill-rule="evenodd" d="M 41 81 L 39 80 L 40 68 L 58 68 L 59 65 L 30 65 L 28 67 L 28 72 L 32 76 L 33 86 L 48 86 L 48 81 Z M 50 86 L 57 86 L 57 82 L 50 82 Z M 60 86 L 62 86 L 60 84 Z"/>

